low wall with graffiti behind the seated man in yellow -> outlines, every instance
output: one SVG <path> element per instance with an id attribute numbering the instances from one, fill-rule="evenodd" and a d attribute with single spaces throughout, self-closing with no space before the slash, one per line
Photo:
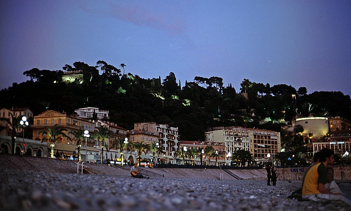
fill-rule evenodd
<path id="1" fill-rule="evenodd" d="M 302 180 L 307 167 L 276 168 L 279 174 L 278 180 Z M 351 180 L 351 166 L 334 166 L 335 180 Z"/>

